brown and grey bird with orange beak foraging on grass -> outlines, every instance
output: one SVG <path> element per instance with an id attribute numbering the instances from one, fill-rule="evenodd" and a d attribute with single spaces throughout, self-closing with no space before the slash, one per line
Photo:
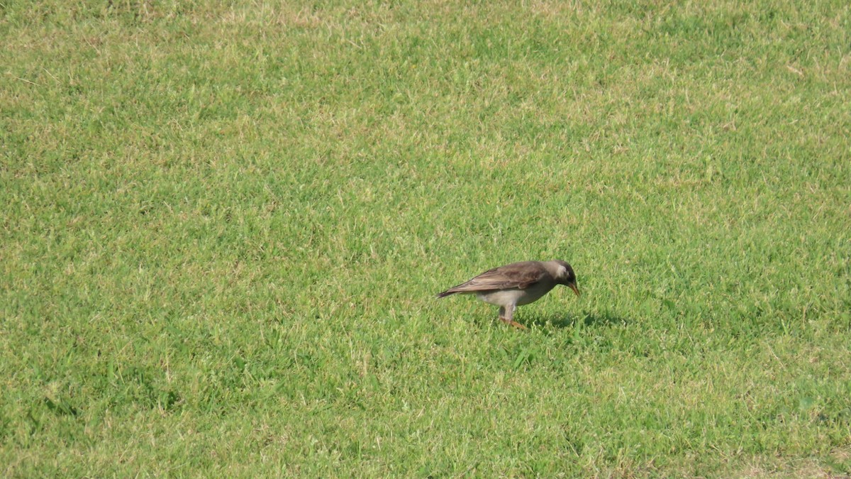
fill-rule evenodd
<path id="1" fill-rule="evenodd" d="M 568 263 L 559 259 L 521 261 L 488 269 L 465 283 L 438 293 L 437 297 L 455 293 L 476 294 L 485 303 L 500 307 L 500 320 L 519 329 L 527 329 L 513 319 L 514 310 L 517 306 L 534 303 L 556 285 L 568 286 L 576 296 L 580 296 L 574 268 Z"/>

